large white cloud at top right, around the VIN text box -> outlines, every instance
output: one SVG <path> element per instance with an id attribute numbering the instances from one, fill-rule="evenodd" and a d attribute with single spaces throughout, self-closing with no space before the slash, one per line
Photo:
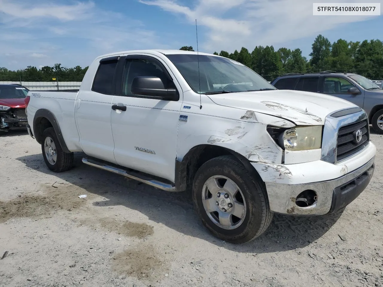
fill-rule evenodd
<path id="1" fill-rule="evenodd" d="M 183 6 L 177 0 L 140 0 L 164 11 L 186 16 L 190 24 L 209 29 L 202 47 L 234 51 L 242 46 L 275 45 L 316 36 L 339 24 L 369 20 L 371 16 L 313 16 L 313 2 L 329 0 L 195 0 Z M 344 0 L 338 0 L 345 2 Z M 347 1 L 360 3 L 363 0 Z M 370 1 L 364 1 L 370 2 Z M 240 44 L 239 44 L 240 43 Z"/>

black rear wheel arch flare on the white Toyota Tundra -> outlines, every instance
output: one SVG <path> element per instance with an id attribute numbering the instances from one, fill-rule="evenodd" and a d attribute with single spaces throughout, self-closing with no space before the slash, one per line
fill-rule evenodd
<path id="1" fill-rule="evenodd" d="M 65 153 L 70 153 L 65 143 L 64 137 L 62 136 L 59 123 L 57 122 L 54 114 L 52 114 L 52 112 L 48 109 L 38 109 L 33 118 L 33 132 L 34 137 L 38 143 L 43 143 L 43 132 L 48 127 L 53 127 L 62 150 Z"/>

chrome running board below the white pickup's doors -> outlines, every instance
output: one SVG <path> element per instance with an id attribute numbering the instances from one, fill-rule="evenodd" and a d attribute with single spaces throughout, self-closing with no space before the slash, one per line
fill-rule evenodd
<path id="1" fill-rule="evenodd" d="M 101 170 L 110 171 L 112 173 L 116 173 L 116 174 L 125 176 L 127 178 L 134 179 L 134 180 L 139 181 L 141 183 L 145 183 L 147 185 L 153 186 L 154 188 L 158 188 L 158 189 L 161 189 L 164 191 L 176 191 L 174 185 L 168 184 L 168 183 L 163 183 L 163 182 L 155 180 L 155 179 L 145 179 L 138 172 L 134 172 L 134 174 L 133 174 L 133 172 L 128 173 L 128 171 L 123 170 L 122 168 L 117 168 L 115 166 L 108 165 L 107 163 L 100 163 L 98 161 L 90 160 L 87 158 L 83 158 L 82 162 L 85 163 L 86 165 L 100 168 Z"/>

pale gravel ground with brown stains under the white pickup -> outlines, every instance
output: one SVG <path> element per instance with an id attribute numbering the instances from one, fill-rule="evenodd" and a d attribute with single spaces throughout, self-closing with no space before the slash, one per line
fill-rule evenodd
<path id="1" fill-rule="evenodd" d="M 81 163 L 54 174 L 26 132 L 0 137 L 0 286 L 383 286 L 382 154 L 342 213 L 274 215 L 243 245 L 211 236 L 190 199 Z M 85 199 L 78 196 L 86 194 Z"/>

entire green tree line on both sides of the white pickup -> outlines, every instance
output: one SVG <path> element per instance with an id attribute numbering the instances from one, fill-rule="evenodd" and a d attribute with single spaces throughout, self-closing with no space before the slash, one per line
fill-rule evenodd
<path id="1" fill-rule="evenodd" d="M 180 50 L 194 51 L 192 46 L 184 46 Z M 380 40 L 352 42 L 339 39 L 331 43 L 329 39 L 318 35 L 312 44 L 310 59 L 302 56 L 299 48 L 280 48 L 275 51 L 273 46 L 256 46 L 252 52 L 242 47 L 232 53 L 221 51 L 214 54 L 236 60 L 268 81 L 285 73 L 324 70 L 357 73 L 370 80 L 383 79 L 383 42 Z M 0 68 L 0 81 L 50 82 L 56 78 L 57 81 L 81 82 L 87 70 L 88 67 L 65 68 L 61 64 L 40 69 L 28 66 L 17 71 Z"/>

